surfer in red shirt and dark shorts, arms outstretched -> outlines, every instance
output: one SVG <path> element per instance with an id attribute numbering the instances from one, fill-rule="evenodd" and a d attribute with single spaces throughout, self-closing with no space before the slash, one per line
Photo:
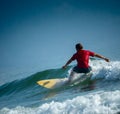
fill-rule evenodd
<path id="1" fill-rule="evenodd" d="M 75 66 L 72 69 L 72 72 L 70 74 L 69 82 L 74 77 L 74 73 L 85 73 L 86 74 L 86 73 L 89 73 L 90 71 L 92 71 L 92 68 L 89 66 L 89 57 L 90 56 L 98 57 L 98 58 L 105 60 L 106 62 L 109 62 L 109 59 L 102 55 L 96 54 L 89 50 L 84 50 L 83 45 L 81 43 L 76 44 L 75 48 L 76 48 L 77 52 L 62 67 L 63 69 L 65 69 L 72 61 L 74 61 L 74 60 L 77 61 L 77 66 Z"/>

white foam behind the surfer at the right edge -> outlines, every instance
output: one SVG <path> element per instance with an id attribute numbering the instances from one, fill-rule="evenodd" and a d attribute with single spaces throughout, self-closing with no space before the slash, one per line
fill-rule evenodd
<path id="1" fill-rule="evenodd" d="M 120 79 L 120 61 L 92 61 L 93 78 L 104 78 L 106 80 Z"/>

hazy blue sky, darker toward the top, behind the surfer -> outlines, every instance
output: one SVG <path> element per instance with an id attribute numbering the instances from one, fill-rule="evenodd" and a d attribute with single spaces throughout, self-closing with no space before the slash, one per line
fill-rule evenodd
<path id="1" fill-rule="evenodd" d="M 75 44 L 120 59 L 119 0 L 0 0 L 0 67 L 61 67 Z"/>

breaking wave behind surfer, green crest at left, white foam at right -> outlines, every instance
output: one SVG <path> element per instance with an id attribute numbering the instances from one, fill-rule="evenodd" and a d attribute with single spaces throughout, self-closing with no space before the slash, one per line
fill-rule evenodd
<path id="1" fill-rule="evenodd" d="M 120 62 L 114 61 L 111 63 L 105 63 L 103 61 L 92 61 L 91 66 L 93 68 L 92 79 L 104 79 L 104 80 L 120 80 Z M 70 73 L 71 67 L 66 70 L 63 69 L 50 69 L 42 72 L 37 72 L 25 79 L 14 80 L 0 86 L 0 97 L 17 93 L 26 89 L 36 86 L 38 80 L 52 79 L 52 78 L 64 78 Z"/>

